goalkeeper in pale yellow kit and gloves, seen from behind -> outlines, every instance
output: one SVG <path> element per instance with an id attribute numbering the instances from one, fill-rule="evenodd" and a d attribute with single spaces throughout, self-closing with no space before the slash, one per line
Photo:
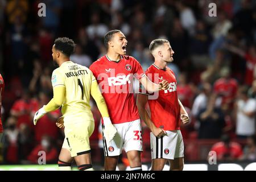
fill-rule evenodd
<path id="1" fill-rule="evenodd" d="M 59 155 L 60 170 L 71 170 L 75 159 L 81 171 L 92 170 L 89 137 L 94 130 L 94 119 L 90 110 L 90 95 L 96 101 L 105 125 L 105 138 L 112 140 L 117 130 L 109 118 L 105 100 L 96 78 L 86 67 L 69 60 L 75 43 L 68 38 L 58 38 L 52 47 L 53 61 L 59 65 L 52 73 L 53 98 L 36 111 L 34 125 L 44 114 L 58 109 L 63 116 L 56 125 L 65 127 L 65 139 Z"/>

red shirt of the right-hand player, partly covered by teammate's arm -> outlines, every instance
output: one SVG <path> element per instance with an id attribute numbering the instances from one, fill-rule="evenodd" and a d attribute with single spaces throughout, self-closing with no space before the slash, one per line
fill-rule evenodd
<path id="1" fill-rule="evenodd" d="M 164 130 L 180 130 L 180 105 L 174 72 L 168 67 L 160 69 L 155 64 L 152 64 L 145 74 L 152 82 L 158 84 L 159 81 L 164 79 L 170 85 L 169 89 L 159 91 L 157 99 L 150 100 L 150 97 L 148 97 L 152 122 L 156 127 L 162 127 Z M 159 80 L 155 80 L 155 78 Z M 143 93 L 142 89 L 140 89 L 140 93 Z M 146 92 L 145 94 L 148 93 Z"/>

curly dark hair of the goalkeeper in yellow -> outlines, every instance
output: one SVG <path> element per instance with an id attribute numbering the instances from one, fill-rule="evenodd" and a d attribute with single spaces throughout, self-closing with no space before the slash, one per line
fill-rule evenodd
<path id="1" fill-rule="evenodd" d="M 57 38 L 54 41 L 55 49 L 61 51 L 64 55 L 70 56 L 75 50 L 75 42 L 69 38 Z"/>

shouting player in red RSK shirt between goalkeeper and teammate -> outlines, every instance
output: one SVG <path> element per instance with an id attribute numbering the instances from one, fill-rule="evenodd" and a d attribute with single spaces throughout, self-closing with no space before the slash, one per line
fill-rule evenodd
<path id="1" fill-rule="evenodd" d="M 111 121 L 117 128 L 113 140 L 106 141 L 104 137 L 105 170 L 115 170 L 122 148 L 126 151 L 131 170 L 141 170 L 141 122 L 134 101 L 133 77 L 150 92 L 167 89 L 168 84 L 166 80 L 154 84 L 144 75 L 141 64 L 134 57 L 125 56 L 127 40 L 121 31 L 109 31 L 104 43 L 107 54 L 95 61 L 90 70 L 97 78 Z"/>

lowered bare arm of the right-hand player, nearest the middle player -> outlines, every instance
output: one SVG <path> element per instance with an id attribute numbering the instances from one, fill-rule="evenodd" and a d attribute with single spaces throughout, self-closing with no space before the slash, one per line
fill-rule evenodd
<path id="1" fill-rule="evenodd" d="M 146 125 L 149 127 L 149 129 L 152 131 L 152 133 L 155 135 L 155 137 L 162 137 L 163 135 L 166 135 L 166 131 L 163 129 L 156 127 L 154 123 L 151 121 L 147 110 L 145 109 L 145 106 L 147 104 L 148 96 L 146 94 L 138 94 L 137 96 L 137 107 L 139 110 L 139 115 L 141 119 L 146 123 Z"/>

